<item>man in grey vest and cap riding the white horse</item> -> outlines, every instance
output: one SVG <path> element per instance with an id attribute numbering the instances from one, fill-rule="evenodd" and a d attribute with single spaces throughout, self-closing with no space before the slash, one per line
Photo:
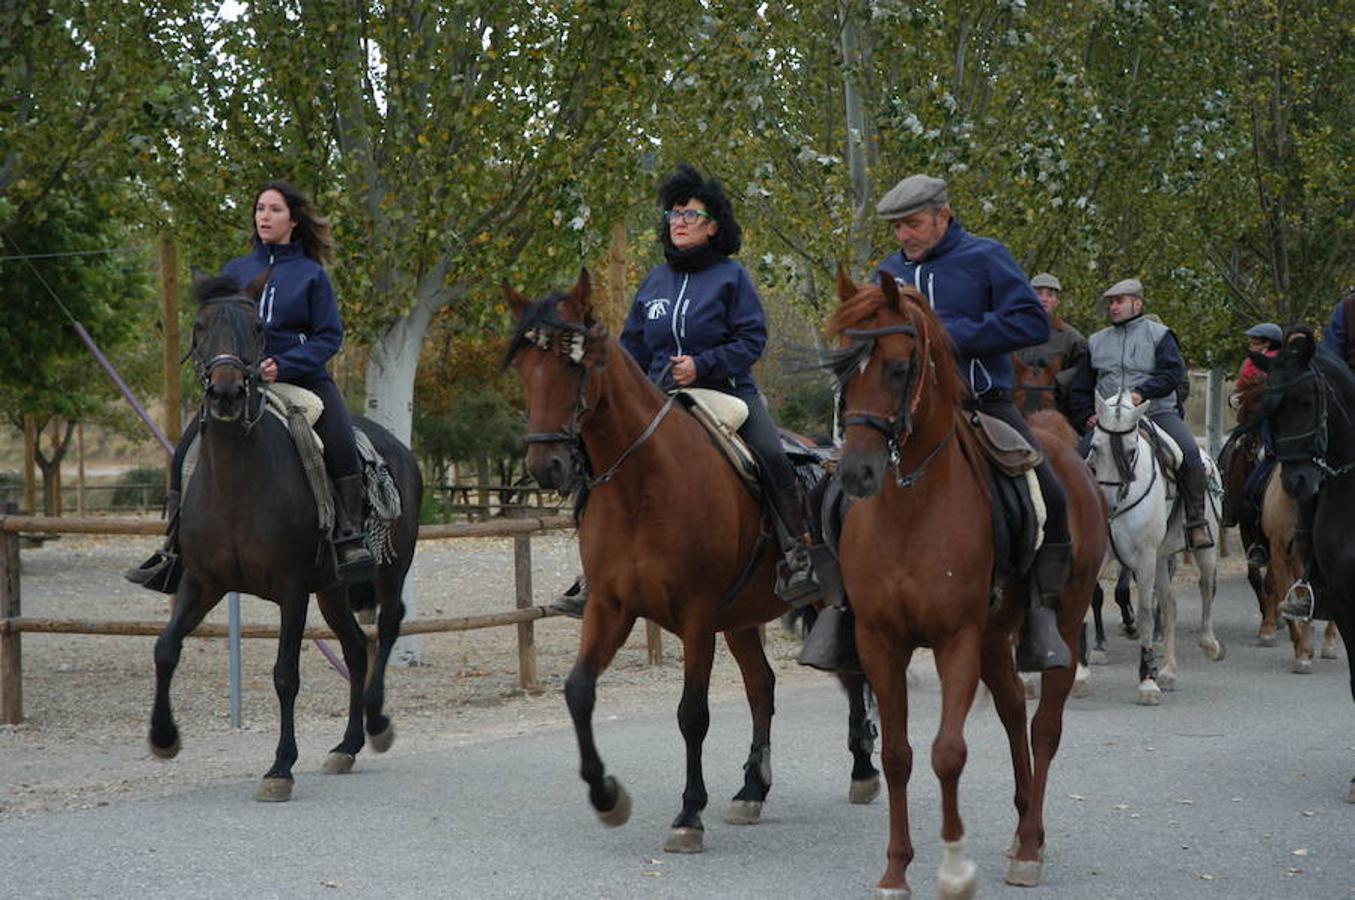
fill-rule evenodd
<path id="1" fill-rule="evenodd" d="M 1088 449 L 1096 426 L 1095 394 L 1110 398 L 1129 390 L 1135 405 L 1149 404 L 1148 417 L 1182 449 L 1177 484 L 1186 502 L 1186 541 L 1195 550 L 1214 546 L 1205 518 L 1205 461 L 1195 435 L 1182 419 L 1177 400 L 1187 371 L 1176 335 L 1144 314 L 1144 285 L 1137 278 L 1115 282 L 1102 300 L 1111 324 L 1087 342 L 1087 356 L 1069 389 L 1073 422 L 1087 431 L 1083 450 Z"/>

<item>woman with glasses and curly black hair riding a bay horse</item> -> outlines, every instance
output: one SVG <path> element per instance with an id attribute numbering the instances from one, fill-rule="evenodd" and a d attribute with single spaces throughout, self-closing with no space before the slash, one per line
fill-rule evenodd
<path id="1" fill-rule="evenodd" d="M 813 590 L 809 508 L 753 382 L 752 366 L 767 346 L 767 317 L 748 270 L 730 259 L 743 245 L 743 232 L 724 186 L 691 165 L 682 164 L 664 179 L 659 202 L 664 262 L 635 291 L 621 346 L 663 390 L 709 388 L 748 404 L 738 434 L 757 455 L 763 484 L 795 538 L 786 548 L 776 592 L 783 599 L 802 596 Z M 580 580 L 554 609 L 583 615 L 585 599 Z"/>

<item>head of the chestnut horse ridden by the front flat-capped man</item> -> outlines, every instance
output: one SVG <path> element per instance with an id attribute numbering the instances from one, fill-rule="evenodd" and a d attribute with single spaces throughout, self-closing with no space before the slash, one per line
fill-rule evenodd
<path id="1" fill-rule="evenodd" d="M 837 295 L 841 306 L 828 324 L 837 348 L 822 363 L 839 389 L 837 473 L 848 495 L 870 497 L 883 489 L 889 468 L 900 487 L 921 476 L 951 435 L 963 384 L 940 320 L 916 290 L 888 275 L 858 286 L 839 270 Z M 904 476 L 900 459 L 915 434 L 935 443 Z"/>

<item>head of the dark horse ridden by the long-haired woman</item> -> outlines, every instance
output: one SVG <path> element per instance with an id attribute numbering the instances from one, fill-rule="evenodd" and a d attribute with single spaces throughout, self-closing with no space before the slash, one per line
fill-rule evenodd
<path id="1" fill-rule="evenodd" d="M 198 317 L 188 352 L 202 382 L 203 407 L 218 422 L 243 422 L 245 428 L 257 422 L 262 403 L 255 401 L 253 417 L 249 409 L 264 352 L 263 321 L 256 304 L 271 275 L 267 271 L 241 290 L 234 279 L 192 272 Z"/>

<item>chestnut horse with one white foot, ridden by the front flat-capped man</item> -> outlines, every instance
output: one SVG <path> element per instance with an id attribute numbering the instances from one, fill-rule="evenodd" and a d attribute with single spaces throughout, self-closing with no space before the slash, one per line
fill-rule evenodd
<path id="1" fill-rule="evenodd" d="M 906 670 L 919 647 L 932 648 L 940 676 L 940 727 L 931 748 L 942 792 L 940 895 L 973 896 L 977 884 L 976 866 L 965 858 L 958 789 L 967 752 L 965 716 L 980 678 L 1007 731 L 1016 782 L 1018 825 L 1007 881 L 1038 884 L 1045 790 L 1075 671 L 1043 672 L 1027 737 L 1012 638 L 1031 586 L 1027 577 L 995 580 L 989 468 L 961 422 L 967 388 L 946 331 L 921 294 L 892 278 L 856 286 L 839 275 L 837 293 L 841 306 L 829 332 L 839 348 L 829 363 L 844 409 L 839 477 L 858 497 L 847 512 L 839 553 L 856 613 L 858 651 L 879 702 L 881 760 L 889 785 L 888 862 L 877 896 L 909 896 L 913 844 L 906 790 L 913 751 Z M 1058 629 L 1076 647 L 1106 554 L 1107 510 L 1066 422 L 1041 413 L 1031 424 L 1068 492 L 1073 568 Z"/>

